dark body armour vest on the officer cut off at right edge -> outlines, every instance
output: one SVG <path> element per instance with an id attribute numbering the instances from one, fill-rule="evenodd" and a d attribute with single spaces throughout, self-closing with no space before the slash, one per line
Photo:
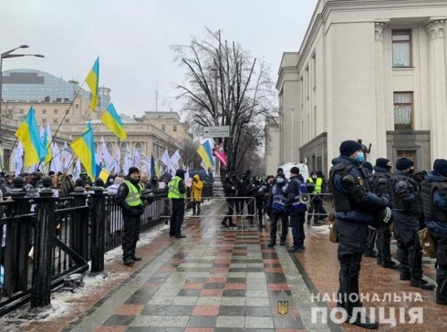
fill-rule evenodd
<path id="1" fill-rule="evenodd" d="M 447 194 L 447 182 L 423 182 L 421 185 L 421 200 L 423 215 L 426 221 L 447 222 L 446 211 L 435 205 L 433 194 L 438 190 L 439 194 Z"/>

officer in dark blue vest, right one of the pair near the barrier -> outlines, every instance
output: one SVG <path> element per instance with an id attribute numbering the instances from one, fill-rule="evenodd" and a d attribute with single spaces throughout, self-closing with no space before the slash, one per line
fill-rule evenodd
<path id="1" fill-rule="evenodd" d="M 287 190 L 286 210 L 289 210 L 290 225 L 292 228 L 293 246 L 287 251 L 302 252 L 304 250 L 304 220 L 306 218 L 307 205 L 300 203 L 300 194 L 305 188 L 300 169 L 292 167 L 290 169 L 289 188 Z"/>

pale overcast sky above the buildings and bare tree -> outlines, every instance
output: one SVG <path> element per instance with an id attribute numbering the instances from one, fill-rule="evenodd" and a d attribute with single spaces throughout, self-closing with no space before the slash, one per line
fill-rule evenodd
<path id="1" fill-rule="evenodd" d="M 284 51 L 300 48 L 317 0 L 1 0 L 0 52 L 28 44 L 44 59 L 5 59 L 3 71 L 33 68 L 82 82 L 100 56 L 100 86 L 111 89 L 118 113 L 179 111 L 173 82 L 183 69 L 173 44 L 221 29 L 271 64 L 276 82 Z M 20 53 L 20 51 L 18 50 Z M 86 88 L 87 89 L 87 88 Z"/>

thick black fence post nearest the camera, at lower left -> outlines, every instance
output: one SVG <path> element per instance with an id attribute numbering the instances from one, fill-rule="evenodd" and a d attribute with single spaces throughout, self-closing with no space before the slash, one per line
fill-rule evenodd
<path id="1" fill-rule="evenodd" d="M 51 304 L 52 252 L 55 232 L 55 203 L 53 190 L 42 188 L 37 203 L 37 223 L 34 232 L 33 291 L 31 308 Z"/>

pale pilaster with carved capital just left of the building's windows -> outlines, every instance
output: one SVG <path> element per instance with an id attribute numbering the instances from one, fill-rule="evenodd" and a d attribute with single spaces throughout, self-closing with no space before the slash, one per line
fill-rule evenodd
<path id="1" fill-rule="evenodd" d="M 377 158 L 386 158 L 386 115 L 385 115 L 385 82 L 383 80 L 383 30 L 386 24 L 383 22 L 374 23 L 375 39 L 375 64 L 376 64 L 376 149 Z"/>

